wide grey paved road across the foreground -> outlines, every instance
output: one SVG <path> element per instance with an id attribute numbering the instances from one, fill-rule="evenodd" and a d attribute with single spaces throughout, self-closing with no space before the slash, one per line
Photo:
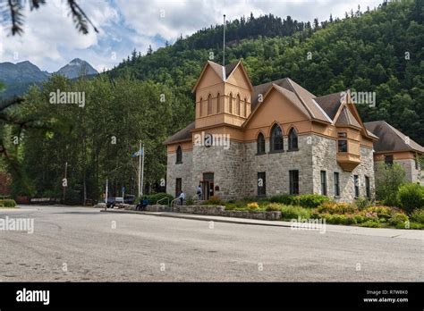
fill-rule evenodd
<path id="1" fill-rule="evenodd" d="M 423 281 L 423 240 L 214 223 L 85 207 L 0 210 L 0 281 Z M 377 230 L 377 229 L 376 229 Z"/>

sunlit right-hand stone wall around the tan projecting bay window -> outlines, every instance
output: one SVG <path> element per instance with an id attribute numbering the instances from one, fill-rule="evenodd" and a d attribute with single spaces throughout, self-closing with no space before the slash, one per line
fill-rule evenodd
<path id="1" fill-rule="evenodd" d="M 360 164 L 352 171 L 345 172 L 337 163 L 337 141 L 313 135 L 313 193 L 321 193 L 321 171 L 326 171 L 326 193 L 336 201 L 352 202 L 355 199 L 353 175 L 360 181 L 360 197 L 366 194 L 365 176 L 369 176 L 371 197 L 375 194 L 374 159 L 372 149 L 360 147 Z M 340 198 L 335 198 L 334 172 L 339 172 Z"/>

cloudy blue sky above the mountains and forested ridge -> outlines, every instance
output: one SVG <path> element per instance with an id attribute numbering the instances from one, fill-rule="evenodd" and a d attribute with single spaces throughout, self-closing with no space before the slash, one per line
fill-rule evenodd
<path id="1" fill-rule="evenodd" d="M 272 13 L 297 21 L 343 18 L 345 12 L 377 7 L 382 0 L 79 0 L 99 32 L 79 33 L 63 0 L 30 12 L 26 5 L 24 33 L 11 35 L 10 22 L 0 16 L 0 63 L 30 61 L 43 71 L 57 71 L 74 58 L 89 62 L 98 71 L 121 63 L 136 48 L 145 54 L 173 43 L 181 34 L 227 20 Z"/>

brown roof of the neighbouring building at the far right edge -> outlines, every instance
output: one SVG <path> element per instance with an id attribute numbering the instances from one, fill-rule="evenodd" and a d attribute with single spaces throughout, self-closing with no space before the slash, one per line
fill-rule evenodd
<path id="1" fill-rule="evenodd" d="M 379 138 L 374 142 L 374 150 L 376 152 L 417 151 L 424 153 L 424 147 L 412 139 L 407 138 L 403 132 L 394 129 L 386 121 L 365 122 L 364 125 L 367 130 Z M 407 144 L 408 141 L 409 144 Z"/>

